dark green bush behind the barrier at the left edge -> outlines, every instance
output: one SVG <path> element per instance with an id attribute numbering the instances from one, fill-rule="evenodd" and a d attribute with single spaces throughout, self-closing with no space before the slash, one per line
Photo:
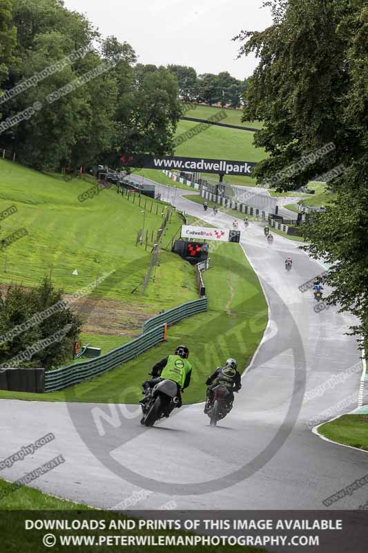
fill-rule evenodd
<path id="1" fill-rule="evenodd" d="M 6 297 L 0 297 L 0 334 L 6 335 L 14 327 L 24 325 L 19 335 L 9 341 L 0 342 L 0 365 L 52 368 L 68 362 L 73 344 L 78 340 L 81 321 L 69 306 L 59 303 L 63 299 L 63 290 L 55 290 L 50 279 L 43 279 L 37 288 L 26 290 L 20 286 L 11 286 Z M 27 323 L 35 315 L 43 313 L 52 306 L 55 312 L 47 319 L 35 322 L 30 328 Z M 59 333 L 59 335 L 58 335 Z M 48 339 L 49 344 L 42 340 Z M 39 346 L 37 347 L 37 344 Z M 30 359 L 14 360 L 14 357 L 33 347 Z"/>

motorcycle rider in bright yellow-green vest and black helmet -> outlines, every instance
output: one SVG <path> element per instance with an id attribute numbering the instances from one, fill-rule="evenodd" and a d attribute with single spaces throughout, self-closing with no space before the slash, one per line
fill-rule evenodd
<path id="1" fill-rule="evenodd" d="M 173 380 L 177 383 L 177 399 L 179 402 L 177 407 L 182 406 L 181 390 L 188 388 L 191 383 L 191 363 L 188 362 L 189 350 L 186 346 L 177 346 L 174 355 L 168 355 L 156 363 L 152 372 L 150 373 L 153 378 L 142 382 L 143 393 L 146 393 L 147 388 L 153 388 L 156 384 L 162 380 Z M 139 403 L 146 404 L 149 397 L 145 395 Z"/>

